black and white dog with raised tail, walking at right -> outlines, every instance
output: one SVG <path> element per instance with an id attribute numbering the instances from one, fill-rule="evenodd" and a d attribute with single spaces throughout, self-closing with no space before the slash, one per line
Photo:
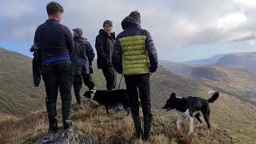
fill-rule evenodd
<path id="1" fill-rule="evenodd" d="M 197 118 L 201 123 L 200 115 L 203 115 L 208 129 L 210 130 L 210 107 L 209 103 L 214 102 L 218 98 L 218 92 L 214 92 L 209 99 L 198 98 L 198 97 L 176 97 L 175 93 L 170 94 L 170 98 L 167 100 L 166 105 L 162 109 L 167 109 L 167 111 L 176 109 L 179 112 L 179 118 L 177 120 L 177 128 L 180 130 L 180 123 L 185 119 L 190 120 L 190 131 L 188 134 L 193 133 L 193 117 Z"/>

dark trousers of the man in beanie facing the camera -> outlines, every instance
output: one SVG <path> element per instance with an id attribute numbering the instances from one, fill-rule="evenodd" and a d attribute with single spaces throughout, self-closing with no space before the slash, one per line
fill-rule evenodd
<path id="1" fill-rule="evenodd" d="M 114 69 L 114 66 L 103 67 L 102 72 L 106 78 L 106 90 L 115 89 L 117 83 L 117 72 Z"/>

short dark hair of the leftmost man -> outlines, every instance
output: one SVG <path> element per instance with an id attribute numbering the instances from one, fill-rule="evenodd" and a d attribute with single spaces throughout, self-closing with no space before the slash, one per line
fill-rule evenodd
<path id="1" fill-rule="evenodd" d="M 49 2 L 46 6 L 47 14 L 54 16 L 58 13 L 63 13 L 63 7 L 58 2 Z"/>

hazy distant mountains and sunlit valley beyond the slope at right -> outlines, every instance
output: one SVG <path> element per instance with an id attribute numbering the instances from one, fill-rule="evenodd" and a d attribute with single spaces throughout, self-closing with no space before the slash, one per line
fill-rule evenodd
<path id="1" fill-rule="evenodd" d="M 160 63 L 174 74 L 205 82 L 256 106 L 256 52 L 225 54 L 207 66 Z"/>

